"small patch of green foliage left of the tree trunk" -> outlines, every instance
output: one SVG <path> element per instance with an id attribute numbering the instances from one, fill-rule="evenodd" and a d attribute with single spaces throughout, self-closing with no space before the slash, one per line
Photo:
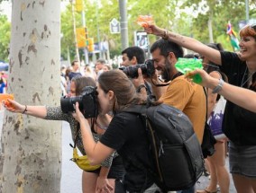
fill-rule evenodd
<path id="1" fill-rule="evenodd" d="M 0 59 L 8 61 L 9 44 L 11 37 L 11 23 L 8 22 L 6 15 L 0 13 Z"/>

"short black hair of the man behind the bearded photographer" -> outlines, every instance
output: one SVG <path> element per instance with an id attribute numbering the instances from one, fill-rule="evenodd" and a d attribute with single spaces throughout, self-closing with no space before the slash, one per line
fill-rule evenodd
<path id="1" fill-rule="evenodd" d="M 122 51 L 122 55 L 126 54 L 129 60 L 136 57 L 138 64 L 143 64 L 145 62 L 145 52 L 140 47 L 129 47 Z"/>

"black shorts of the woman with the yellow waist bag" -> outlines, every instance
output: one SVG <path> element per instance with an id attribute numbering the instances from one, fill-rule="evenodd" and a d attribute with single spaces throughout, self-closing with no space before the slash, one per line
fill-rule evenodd
<path id="1" fill-rule="evenodd" d="M 95 171 L 87 171 L 99 174 L 101 168 L 98 168 Z M 123 180 L 125 170 L 123 167 L 123 160 L 121 156 L 117 156 L 113 159 L 110 171 L 108 172 L 107 178 L 108 179 L 116 179 L 116 180 Z"/>

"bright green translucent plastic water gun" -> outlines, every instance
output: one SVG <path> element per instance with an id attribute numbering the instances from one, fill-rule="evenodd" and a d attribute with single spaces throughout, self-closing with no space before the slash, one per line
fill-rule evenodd
<path id="1" fill-rule="evenodd" d="M 179 57 L 175 67 L 177 68 L 178 72 L 184 75 L 196 69 L 203 69 L 202 60 L 197 58 Z M 202 77 L 200 74 L 190 74 L 189 78 L 191 78 L 194 83 L 200 84 L 202 82 Z"/>

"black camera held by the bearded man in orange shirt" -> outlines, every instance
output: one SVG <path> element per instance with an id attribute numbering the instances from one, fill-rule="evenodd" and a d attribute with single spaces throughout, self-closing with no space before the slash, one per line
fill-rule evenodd
<path id="1" fill-rule="evenodd" d="M 127 66 L 127 67 L 119 67 L 120 70 L 123 70 L 123 73 L 131 78 L 138 77 L 138 68 L 142 69 L 142 75 L 146 75 L 147 77 L 151 77 L 155 73 L 154 61 L 149 59 L 142 65 L 136 66 Z"/>

